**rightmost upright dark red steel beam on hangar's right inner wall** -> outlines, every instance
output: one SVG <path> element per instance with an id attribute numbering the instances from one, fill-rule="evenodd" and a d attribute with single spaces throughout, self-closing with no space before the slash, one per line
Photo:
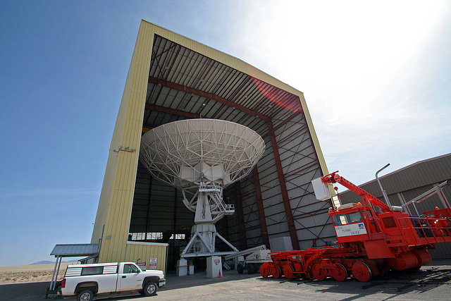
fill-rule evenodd
<path id="1" fill-rule="evenodd" d="M 285 184 L 285 176 L 283 175 L 282 161 L 277 147 L 276 135 L 274 134 L 273 123 L 268 121 L 269 137 L 271 137 L 271 145 L 273 147 L 274 161 L 276 161 L 277 175 L 279 179 L 280 190 L 282 192 L 283 207 L 287 216 L 288 231 L 290 232 L 291 244 L 294 250 L 299 250 L 299 239 L 297 238 L 295 222 L 292 218 L 292 210 L 290 198 L 288 197 L 287 185 Z"/>

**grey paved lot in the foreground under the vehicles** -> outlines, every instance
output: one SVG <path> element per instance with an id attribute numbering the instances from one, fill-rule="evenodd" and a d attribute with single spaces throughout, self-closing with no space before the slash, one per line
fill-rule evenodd
<path id="1" fill-rule="evenodd" d="M 433 261 L 416 272 L 389 272 L 367 283 L 354 279 L 288 281 L 233 270 L 224 271 L 222 278 L 197 273 L 184 277 L 168 274 L 166 279 L 167 285 L 154 297 L 132 295 L 102 300 L 451 300 L 451 260 Z M 46 282 L 0 285 L 0 300 L 45 300 L 48 286 Z"/>

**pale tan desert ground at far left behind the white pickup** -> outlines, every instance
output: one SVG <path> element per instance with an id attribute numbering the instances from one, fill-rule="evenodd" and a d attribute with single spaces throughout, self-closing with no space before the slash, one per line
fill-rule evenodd
<path id="1" fill-rule="evenodd" d="M 69 264 L 62 263 L 58 279 L 62 280 Z M 51 281 L 55 264 L 32 264 L 28 266 L 0 266 L 0 284 Z"/>

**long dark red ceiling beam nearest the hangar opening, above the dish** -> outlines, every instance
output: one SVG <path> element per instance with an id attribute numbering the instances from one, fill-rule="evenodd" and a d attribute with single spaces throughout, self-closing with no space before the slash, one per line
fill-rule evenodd
<path id="1" fill-rule="evenodd" d="M 226 104 L 227 106 L 232 106 L 233 108 L 243 111 L 245 113 L 248 113 L 249 115 L 261 118 L 264 121 L 268 121 L 268 122 L 271 121 L 271 118 L 269 118 L 268 116 L 257 113 L 256 111 L 252 111 L 251 109 L 248 109 L 245 106 L 240 106 L 240 104 L 236 104 L 235 102 L 230 102 L 229 100 L 219 97 L 218 95 L 215 95 L 213 93 L 209 93 L 209 92 L 205 92 L 202 90 L 194 89 L 192 87 L 187 87 L 184 85 L 176 84 L 175 82 L 168 82 L 166 80 L 161 80 L 159 78 L 154 78 L 152 76 L 149 76 L 149 83 L 156 84 L 156 85 L 160 84 L 163 87 L 168 87 L 170 89 L 177 90 L 180 92 L 192 93 L 192 94 L 200 96 L 200 97 L 213 99 L 214 101 L 220 102 L 221 104 Z"/>

